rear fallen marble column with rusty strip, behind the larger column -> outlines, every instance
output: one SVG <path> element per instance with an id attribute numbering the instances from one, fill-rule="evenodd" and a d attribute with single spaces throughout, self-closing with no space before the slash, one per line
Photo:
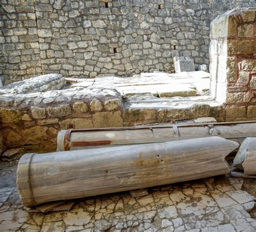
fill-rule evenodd
<path id="1" fill-rule="evenodd" d="M 246 137 L 256 137 L 256 121 L 62 130 L 57 137 L 57 151 L 161 143 L 210 136 L 220 136 L 241 144 Z"/>

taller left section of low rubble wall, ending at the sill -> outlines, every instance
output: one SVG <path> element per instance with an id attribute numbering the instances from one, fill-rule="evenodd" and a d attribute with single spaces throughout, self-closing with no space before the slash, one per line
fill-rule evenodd
<path id="1" fill-rule="evenodd" d="M 0 109 L 4 145 L 54 151 L 60 129 L 123 126 L 119 98 L 101 88 L 10 95 Z"/>

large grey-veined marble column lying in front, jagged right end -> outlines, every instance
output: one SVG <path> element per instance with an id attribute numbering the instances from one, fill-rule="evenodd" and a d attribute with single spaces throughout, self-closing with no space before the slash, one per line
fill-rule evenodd
<path id="1" fill-rule="evenodd" d="M 28 153 L 19 160 L 17 188 L 24 206 L 129 191 L 230 172 L 225 156 L 238 143 L 221 137 Z"/>

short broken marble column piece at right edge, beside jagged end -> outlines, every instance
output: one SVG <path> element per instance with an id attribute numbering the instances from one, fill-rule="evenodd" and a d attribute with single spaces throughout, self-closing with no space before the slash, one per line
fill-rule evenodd
<path id="1" fill-rule="evenodd" d="M 245 175 L 256 175 L 256 138 L 246 138 L 241 144 L 233 165 Z"/>

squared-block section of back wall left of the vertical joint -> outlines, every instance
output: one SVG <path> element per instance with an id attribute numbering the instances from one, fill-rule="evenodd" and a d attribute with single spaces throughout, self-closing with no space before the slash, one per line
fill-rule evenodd
<path id="1" fill-rule="evenodd" d="M 33 0 L 0 4 L 0 76 L 9 83 L 42 74 Z"/>

